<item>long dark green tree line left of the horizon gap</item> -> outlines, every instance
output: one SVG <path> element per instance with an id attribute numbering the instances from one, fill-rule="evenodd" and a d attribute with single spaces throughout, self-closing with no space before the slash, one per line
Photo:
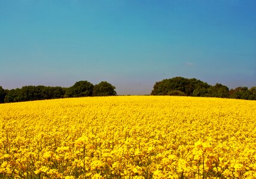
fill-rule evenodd
<path id="1" fill-rule="evenodd" d="M 69 88 L 39 85 L 4 90 L 0 86 L 0 103 L 108 95 L 117 95 L 117 92 L 115 92 L 115 87 L 106 81 L 102 81 L 96 85 L 88 81 L 78 81 Z"/>

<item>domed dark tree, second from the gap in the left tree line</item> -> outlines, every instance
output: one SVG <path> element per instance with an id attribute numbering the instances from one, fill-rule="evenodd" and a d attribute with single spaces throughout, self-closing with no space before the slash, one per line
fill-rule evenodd
<path id="1" fill-rule="evenodd" d="M 64 97 L 87 97 L 93 95 L 93 84 L 88 81 L 78 81 L 66 89 Z"/>

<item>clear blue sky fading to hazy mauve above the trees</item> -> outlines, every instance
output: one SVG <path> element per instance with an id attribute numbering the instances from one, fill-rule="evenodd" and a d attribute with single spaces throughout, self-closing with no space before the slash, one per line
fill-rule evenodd
<path id="1" fill-rule="evenodd" d="M 0 86 L 256 86 L 255 0 L 0 0 Z"/>

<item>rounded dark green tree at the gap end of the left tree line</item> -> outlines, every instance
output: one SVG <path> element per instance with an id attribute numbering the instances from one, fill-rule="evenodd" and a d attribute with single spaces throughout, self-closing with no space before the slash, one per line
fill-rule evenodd
<path id="1" fill-rule="evenodd" d="M 115 87 L 106 81 L 102 81 L 93 88 L 93 96 L 117 95 Z"/>

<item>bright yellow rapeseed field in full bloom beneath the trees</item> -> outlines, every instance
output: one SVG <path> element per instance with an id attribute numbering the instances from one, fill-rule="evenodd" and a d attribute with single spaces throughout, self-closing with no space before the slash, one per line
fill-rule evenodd
<path id="1" fill-rule="evenodd" d="M 0 178 L 256 178 L 256 101 L 0 104 Z"/>

